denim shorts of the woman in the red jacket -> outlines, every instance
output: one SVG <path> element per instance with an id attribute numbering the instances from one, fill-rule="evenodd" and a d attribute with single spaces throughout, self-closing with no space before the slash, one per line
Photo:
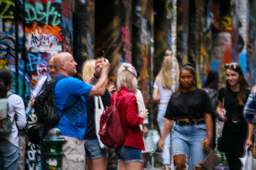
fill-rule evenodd
<path id="1" fill-rule="evenodd" d="M 115 153 L 118 161 L 124 160 L 125 163 L 143 162 L 142 152 L 138 148 L 122 145 L 115 148 Z"/>

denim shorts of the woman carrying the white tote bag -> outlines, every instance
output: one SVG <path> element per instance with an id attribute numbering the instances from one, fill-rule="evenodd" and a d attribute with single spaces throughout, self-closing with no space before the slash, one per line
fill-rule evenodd
<path id="1" fill-rule="evenodd" d="M 86 139 L 84 144 L 86 159 L 97 159 L 108 157 L 108 149 L 100 148 L 98 139 Z"/>

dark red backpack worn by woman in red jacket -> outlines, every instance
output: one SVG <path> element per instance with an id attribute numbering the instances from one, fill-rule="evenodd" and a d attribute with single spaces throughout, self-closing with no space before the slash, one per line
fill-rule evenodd
<path id="1" fill-rule="evenodd" d="M 113 96 L 115 95 L 114 104 L 106 106 L 104 113 L 100 116 L 99 136 L 102 143 L 108 148 L 117 148 L 123 145 L 125 138 L 118 105 L 116 105 L 116 94 L 113 94 Z"/>

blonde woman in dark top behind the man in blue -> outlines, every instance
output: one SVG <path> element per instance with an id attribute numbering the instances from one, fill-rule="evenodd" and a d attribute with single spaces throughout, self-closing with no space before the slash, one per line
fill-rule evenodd
<path id="1" fill-rule="evenodd" d="M 82 76 L 83 81 L 89 81 L 95 76 L 95 59 L 86 60 L 83 64 Z M 90 82 L 93 85 L 97 83 Z M 102 103 L 104 106 L 109 106 L 110 104 L 110 94 L 109 91 L 106 90 L 104 96 L 100 96 Z M 87 110 L 87 127 L 86 132 L 84 134 L 84 149 L 86 152 L 86 163 L 90 167 L 90 169 L 99 169 L 106 170 L 108 167 L 108 149 L 100 147 L 100 141 L 97 138 L 96 128 L 97 122 L 95 122 L 95 105 L 94 105 L 94 96 L 84 97 L 86 103 Z M 99 124 L 98 124 L 99 125 Z"/>

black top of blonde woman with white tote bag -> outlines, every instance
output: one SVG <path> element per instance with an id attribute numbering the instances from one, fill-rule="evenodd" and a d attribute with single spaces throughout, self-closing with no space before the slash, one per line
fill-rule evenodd
<path id="1" fill-rule="evenodd" d="M 110 94 L 108 89 L 106 90 L 104 96 L 100 96 L 103 106 L 110 105 Z M 97 139 L 95 132 L 95 123 L 94 123 L 94 97 L 84 97 L 87 111 L 87 127 L 84 134 L 86 139 Z"/>

